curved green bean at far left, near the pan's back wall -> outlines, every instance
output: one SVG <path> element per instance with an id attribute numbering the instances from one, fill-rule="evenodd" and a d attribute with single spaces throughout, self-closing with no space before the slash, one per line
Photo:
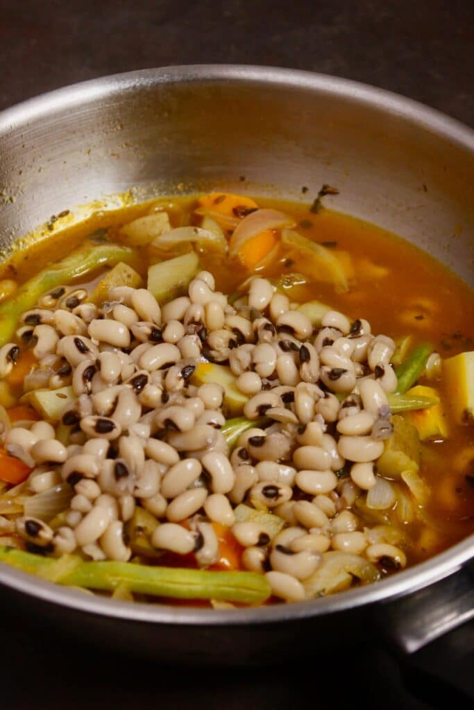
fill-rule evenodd
<path id="1" fill-rule="evenodd" d="M 72 251 L 53 266 L 40 271 L 23 283 L 13 297 L 0 305 L 0 346 L 13 336 L 18 318 L 23 311 L 33 308 L 38 298 L 51 288 L 68 283 L 74 278 L 95 271 L 99 266 L 114 266 L 119 261 L 130 261 L 133 249 L 117 244 L 85 244 Z"/>

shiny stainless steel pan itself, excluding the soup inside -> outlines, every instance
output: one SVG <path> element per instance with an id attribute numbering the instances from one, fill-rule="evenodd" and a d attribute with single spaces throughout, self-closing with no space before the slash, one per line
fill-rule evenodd
<path id="1" fill-rule="evenodd" d="M 299 199 L 328 182 L 340 195 L 326 204 L 392 229 L 472 283 L 473 156 L 467 127 L 362 84 L 263 67 L 132 72 L 0 114 L 1 246 L 130 187 L 136 199 L 180 183 Z M 374 586 L 230 611 L 110 601 L 5 567 L 0 582 L 15 603 L 87 638 L 168 660 L 258 662 L 312 635 L 328 648 L 380 629 L 416 650 L 474 616 L 473 555 L 470 537 Z"/>

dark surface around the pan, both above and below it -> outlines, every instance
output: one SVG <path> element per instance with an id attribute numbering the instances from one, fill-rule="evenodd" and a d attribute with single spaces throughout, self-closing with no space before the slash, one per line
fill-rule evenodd
<path id="1" fill-rule="evenodd" d="M 0 0 L 0 109 L 115 72 L 220 62 L 347 77 L 473 125 L 473 28 L 472 0 Z M 309 639 L 306 662 L 284 670 L 190 670 L 75 643 L 2 600 L 0 591 L 6 710 L 460 709 L 474 695 L 473 624 L 409 659 L 382 643 L 316 658 Z"/>

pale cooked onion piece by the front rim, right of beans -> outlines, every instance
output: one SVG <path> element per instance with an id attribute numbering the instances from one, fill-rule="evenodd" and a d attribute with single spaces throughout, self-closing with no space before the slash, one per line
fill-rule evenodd
<path id="1" fill-rule="evenodd" d="M 372 562 L 359 555 L 338 551 L 325 552 L 321 566 L 311 574 L 311 577 L 303 581 L 303 587 L 306 596 L 313 599 L 315 596 L 348 589 L 354 577 L 369 583 L 377 581 L 380 574 Z"/>

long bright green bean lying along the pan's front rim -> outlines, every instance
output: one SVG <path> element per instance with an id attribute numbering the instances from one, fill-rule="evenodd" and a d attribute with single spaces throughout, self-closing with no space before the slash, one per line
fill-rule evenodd
<path id="1" fill-rule="evenodd" d="M 48 579 L 49 569 L 54 569 L 60 560 L 0 547 L 0 562 Z M 126 584 L 131 592 L 174 599 L 219 599 L 259 604 L 270 596 L 268 580 L 255 572 L 209 572 L 132 562 L 83 562 L 80 558 L 58 581 L 66 586 L 99 591 L 114 591 L 119 584 Z"/>

